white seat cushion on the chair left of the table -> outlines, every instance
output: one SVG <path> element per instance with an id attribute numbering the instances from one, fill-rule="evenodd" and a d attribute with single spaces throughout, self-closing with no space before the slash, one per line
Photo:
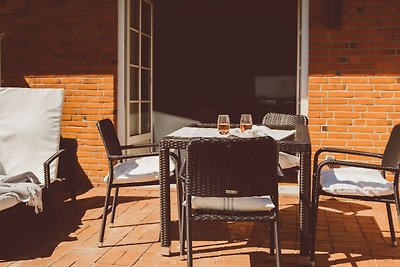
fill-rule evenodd
<path id="1" fill-rule="evenodd" d="M 130 159 L 114 166 L 114 184 L 141 183 L 158 181 L 160 177 L 159 157 L 150 156 L 137 159 Z M 169 170 L 174 171 L 175 164 L 170 159 Z M 108 182 L 109 175 L 104 177 Z"/>

